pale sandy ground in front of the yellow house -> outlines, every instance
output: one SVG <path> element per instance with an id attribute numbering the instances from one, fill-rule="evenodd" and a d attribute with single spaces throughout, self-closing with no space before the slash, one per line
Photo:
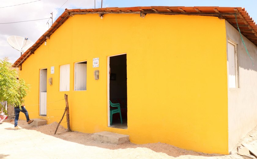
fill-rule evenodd
<path id="1" fill-rule="evenodd" d="M 164 143 L 137 145 L 126 142 L 120 145 L 95 141 L 91 135 L 80 132 L 67 132 L 57 123 L 34 127 L 26 121 L 19 120 L 19 130 L 14 130 L 13 120 L 0 124 L 0 158 L 4 159 L 52 159 L 52 158 L 86 158 L 86 159 L 242 159 L 237 155 L 237 146 L 230 155 L 206 154 L 188 151 Z M 257 127 L 240 142 L 257 139 Z M 240 145 L 240 143 L 238 143 Z"/>

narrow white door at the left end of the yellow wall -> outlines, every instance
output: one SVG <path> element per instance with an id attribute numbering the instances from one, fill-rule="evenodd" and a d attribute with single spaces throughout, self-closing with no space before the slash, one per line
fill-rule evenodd
<path id="1" fill-rule="evenodd" d="M 39 110 L 40 115 L 47 115 L 47 69 L 40 70 Z"/>

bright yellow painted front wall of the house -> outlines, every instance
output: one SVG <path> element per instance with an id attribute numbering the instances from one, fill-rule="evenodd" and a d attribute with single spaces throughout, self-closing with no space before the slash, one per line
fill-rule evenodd
<path id="1" fill-rule="evenodd" d="M 107 57 L 127 54 L 128 129 L 107 126 Z M 92 60 L 99 57 L 99 68 Z M 87 61 L 87 91 L 73 91 L 74 63 Z M 59 91 L 70 64 L 70 91 Z M 50 67 L 55 67 L 50 74 Z M 47 68 L 47 116 L 39 116 L 39 70 Z M 99 80 L 94 70 L 99 69 Z M 130 135 L 205 153 L 228 153 L 225 21 L 185 15 L 98 14 L 70 17 L 22 65 L 31 84 L 31 118 L 59 122 L 68 94 L 71 128 Z M 63 109 L 63 110 L 58 110 Z M 66 127 L 66 123 L 62 123 Z"/>

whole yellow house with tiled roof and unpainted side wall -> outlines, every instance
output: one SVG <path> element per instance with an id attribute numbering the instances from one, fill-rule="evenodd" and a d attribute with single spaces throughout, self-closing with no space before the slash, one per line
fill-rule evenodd
<path id="1" fill-rule="evenodd" d="M 257 124 L 256 32 L 240 7 L 66 9 L 13 66 L 31 118 L 59 122 L 68 94 L 73 131 L 228 154 Z"/>

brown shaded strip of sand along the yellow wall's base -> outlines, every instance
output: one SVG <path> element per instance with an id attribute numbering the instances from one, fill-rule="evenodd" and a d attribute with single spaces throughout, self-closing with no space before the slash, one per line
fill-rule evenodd
<path id="1" fill-rule="evenodd" d="M 10 121 L 6 120 L 5 122 L 10 122 Z M 11 123 L 13 123 L 13 121 L 11 121 Z M 133 144 L 131 142 L 126 142 L 119 145 L 103 143 L 103 142 L 95 141 L 91 137 L 92 134 L 81 133 L 77 131 L 68 132 L 61 125 L 59 126 L 57 133 L 54 135 L 54 131 L 56 130 L 57 125 L 58 123 L 54 122 L 52 124 L 34 127 L 32 125 L 28 125 L 26 121 L 23 121 L 23 120 L 19 120 L 18 122 L 18 126 L 20 126 L 22 129 L 39 131 L 46 135 L 51 135 L 56 138 L 63 139 L 69 142 L 76 142 L 78 144 L 82 144 L 85 146 L 97 146 L 97 147 L 106 148 L 110 150 L 142 147 L 142 148 L 151 149 L 157 153 L 166 153 L 167 155 L 172 157 L 179 157 L 181 155 L 204 156 L 204 157 L 224 156 L 220 154 L 206 154 L 206 153 L 194 152 L 190 150 L 184 150 L 184 149 L 180 149 L 178 147 L 175 147 L 166 143 L 160 143 L 160 142 L 148 143 L 148 144 Z M 14 128 L 6 128 L 6 129 L 14 130 Z"/>

